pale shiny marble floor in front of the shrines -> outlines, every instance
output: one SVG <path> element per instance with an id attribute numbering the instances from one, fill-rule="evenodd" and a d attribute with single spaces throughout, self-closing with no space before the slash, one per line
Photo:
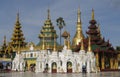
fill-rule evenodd
<path id="1" fill-rule="evenodd" d="M 99 73 L 34 73 L 34 72 L 10 72 L 0 73 L 0 77 L 120 77 L 120 72 Z"/>

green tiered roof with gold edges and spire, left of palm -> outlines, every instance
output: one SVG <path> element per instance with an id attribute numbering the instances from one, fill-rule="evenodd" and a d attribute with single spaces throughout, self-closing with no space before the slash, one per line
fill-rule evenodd
<path id="1" fill-rule="evenodd" d="M 57 39 L 57 34 L 56 34 L 56 30 L 54 30 L 54 26 L 51 22 L 50 19 L 50 11 L 48 9 L 48 17 L 47 20 L 44 23 L 44 26 L 42 27 L 42 30 L 39 34 L 39 39 L 40 42 L 38 43 L 38 46 L 42 46 L 43 45 L 43 37 L 44 37 L 44 44 L 46 46 L 54 46 L 54 39 Z"/>

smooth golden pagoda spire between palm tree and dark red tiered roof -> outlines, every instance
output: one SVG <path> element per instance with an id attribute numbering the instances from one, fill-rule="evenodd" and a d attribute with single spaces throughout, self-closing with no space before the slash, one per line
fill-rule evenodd
<path id="1" fill-rule="evenodd" d="M 73 46 L 78 45 L 81 42 L 82 38 L 84 39 L 84 35 L 82 32 L 81 12 L 80 9 L 78 9 L 76 34 L 73 38 L 72 45 Z"/>

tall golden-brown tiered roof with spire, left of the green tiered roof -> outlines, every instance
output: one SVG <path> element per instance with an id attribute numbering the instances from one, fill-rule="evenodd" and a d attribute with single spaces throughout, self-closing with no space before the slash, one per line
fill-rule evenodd
<path id="1" fill-rule="evenodd" d="M 11 42 L 10 44 L 17 48 L 18 46 L 24 47 L 26 46 L 26 42 L 24 42 L 25 38 L 23 36 L 23 32 L 21 30 L 21 24 L 19 22 L 19 13 L 17 13 L 17 19 L 14 27 L 14 32 L 12 34 Z"/>

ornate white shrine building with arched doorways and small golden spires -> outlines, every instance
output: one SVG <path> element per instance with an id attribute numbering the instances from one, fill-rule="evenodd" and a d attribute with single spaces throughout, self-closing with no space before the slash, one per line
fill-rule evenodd
<path id="1" fill-rule="evenodd" d="M 84 50 L 83 42 L 81 43 L 81 49 L 78 52 L 72 52 L 70 49 L 70 41 L 68 39 L 67 46 L 64 45 L 61 52 L 56 50 L 56 43 L 54 42 L 54 49 L 52 51 L 45 50 L 43 48 L 40 51 L 34 52 L 34 47 L 30 47 L 30 53 L 37 54 L 35 72 L 48 72 L 48 73 L 79 73 L 79 72 L 97 72 L 96 58 L 91 51 L 90 39 L 88 51 Z M 24 55 L 28 53 L 21 52 L 16 53 L 16 56 L 12 62 L 12 70 L 24 71 L 25 61 Z"/>

